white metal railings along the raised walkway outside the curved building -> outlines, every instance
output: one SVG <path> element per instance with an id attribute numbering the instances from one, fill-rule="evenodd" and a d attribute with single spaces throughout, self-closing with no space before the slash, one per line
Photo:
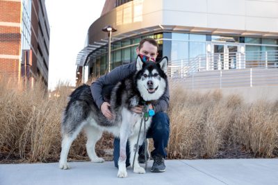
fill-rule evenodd
<path id="1" fill-rule="evenodd" d="M 168 76 L 190 89 L 278 85 L 278 51 L 213 53 L 172 60 Z"/>

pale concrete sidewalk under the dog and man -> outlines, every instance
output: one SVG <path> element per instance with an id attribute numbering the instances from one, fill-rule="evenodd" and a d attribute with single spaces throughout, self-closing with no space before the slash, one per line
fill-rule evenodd
<path id="1" fill-rule="evenodd" d="M 72 162 L 70 170 L 53 164 L 0 164 L 0 184 L 278 184 L 278 159 L 166 160 L 165 173 L 135 174 L 117 178 L 113 162 Z M 144 165 L 142 165 L 144 166 Z"/>

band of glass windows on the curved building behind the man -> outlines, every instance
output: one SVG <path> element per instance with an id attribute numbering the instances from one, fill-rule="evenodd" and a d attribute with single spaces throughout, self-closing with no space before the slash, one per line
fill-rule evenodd
<path id="1" fill-rule="evenodd" d="M 246 62 L 253 64 L 251 67 L 260 65 L 261 58 L 265 58 L 265 51 L 267 51 L 268 63 L 278 67 L 278 39 L 165 32 L 140 35 L 139 37 L 113 42 L 111 44 L 111 69 L 136 60 L 136 48 L 140 40 L 145 37 L 152 37 L 158 42 L 158 57 L 156 60 L 160 60 L 166 55 L 172 67 L 175 61 L 183 63 L 181 64 L 183 69 L 179 67 L 176 70 L 178 71 L 177 73 L 186 70 L 186 66 L 190 65 L 190 61 L 197 61 L 200 57 L 204 58 L 208 53 L 213 55 L 220 53 L 219 60 L 222 61 L 219 66 L 215 60 L 212 69 L 237 69 L 238 63 L 236 60 L 238 59 L 238 54 L 243 52 L 242 50 L 244 50 Z M 276 54 L 273 54 L 273 51 Z M 229 53 L 229 55 L 224 55 L 224 53 Z M 258 53 L 261 54 L 258 55 Z M 100 76 L 106 73 L 108 71 L 107 60 L 107 46 L 95 51 L 88 62 L 90 73 L 93 76 Z M 199 61 L 199 69 L 206 69 L 207 61 Z"/>

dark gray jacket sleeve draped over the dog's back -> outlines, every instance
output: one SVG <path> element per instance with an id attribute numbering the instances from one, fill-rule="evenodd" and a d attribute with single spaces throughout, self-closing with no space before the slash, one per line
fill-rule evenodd
<path id="1" fill-rule="evenodd" d="M 101 104 L 104 103 L 104 97 L 101 95 L 101 91 L 104 85 L 116 85 L 117 82 L 120 82 L 130 73 L 133 73 L 133 68 L 135 68 L 135 66 L 133 67 L 133 65 L 134 64 L 130 63 L 122 65 L 120 67 L 116 67 L 110 73 L 107 73 L 95 80 L 95 82 L 92 82 L 92 85 L 90 87 L 92 98 L 94 99 L 99 109 L 101 107 Z"/>

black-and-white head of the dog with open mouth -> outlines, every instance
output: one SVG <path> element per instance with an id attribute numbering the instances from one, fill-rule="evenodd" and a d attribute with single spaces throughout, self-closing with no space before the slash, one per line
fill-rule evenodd
<path id="1" fill-rule="evenodd" d="M 136 60 L 136 85 L 145 101 L 158 100 L 165 93 L 167 86 L 167 57 L 159 62 Z"/>

